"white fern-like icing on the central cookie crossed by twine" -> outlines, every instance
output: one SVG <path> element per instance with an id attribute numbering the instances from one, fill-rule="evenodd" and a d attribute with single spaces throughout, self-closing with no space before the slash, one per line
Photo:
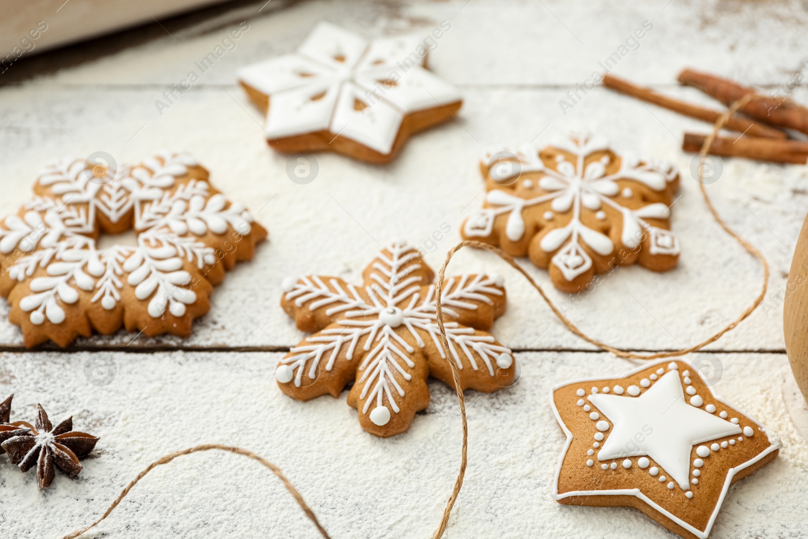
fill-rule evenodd
<path id="1" fill-rule="evenodd" d="M 361 374 L 356 384 L 362 388 L 360 398 L 367 398 L 361 413 L 368 414 L 369 411 L 369 419 L 380 426 L 389 422 L 390 408 L 395 413 L 400 410 L 396 395 L 405 395 L 393 373 L 398 372 L 409 381 L 411 375 L 407 368 L 415 367 L 410 359 L 415 348 L 395 330 L 404 328 L 419 347 L 426 345 L 423 338 L 428 337 L 436 344 L 440 355 L 444 356 L 436 314 L 436 287 L 434 284 L 423 287 L 419 276 L 410 275 L 421 267 L 419 263 L 412 263 L 419 258 L 419 251 L 403 242 L 393 242 L 387 250 L 390 255 L 381 252 L 378 257 L 382 262 L 373 265 L 371 276 L 375 282 L 364 287 L 365 297 L 370 298 L 369 303 L 353 284 L 343 288 L 339 281 L 330 280 L 330 286 L 337 291 L 334 292 L 320 276 L 306 276 L 297 280 L 285 293 L 287 301 L 295 301 L 298 306 L 311 301 L 309 310 L 331 305 L 326 314 L 344 312 L 345 318 L 335 322 L 339 327 L 326 328 L 318 336 L 307 338 L 310 344 L 292 347 L 292 355 L 281 360 L 276 370 L 278 381 L 288 383 L 292 377 L 287 375 L 289 371 L 285 368 L 291 368 L 295 373 L 294 384 L 300 386 L 307 367 L 309 377 L 314 378 L 320 361 L 325 359 L 326 371 L 330 371 L 343 347 L 347 348 L 346 356 L 351 360 L 359 340 L 367 336 L 364 351 L 369 353 L 359 365 Z M 490 296 L 502 296 L 503 290 L 498 288 L 502 284 L 502 277 L 496 274 L 448 278 L 441 293 L 441 305 L 446 314 L 457 318 L 455 309 L 478 309 L 473 301 L 493 305 Z M 478 370 L 480 365 L 475 354 L 482 358 L 492 377 L 497 368 L 511 366 L 513 358 L 510 348 L 494 344 L 493 336 L 475 334 L 473 328 L 457 322 L 446 322 L 444 328 L 457 368 L 464 368 L 462 356 L 471 368 Z M 279 372 L 282 368 L 284 376 L 281 377 Z M 385 397 L 387 406 L 383 402 Z"/>

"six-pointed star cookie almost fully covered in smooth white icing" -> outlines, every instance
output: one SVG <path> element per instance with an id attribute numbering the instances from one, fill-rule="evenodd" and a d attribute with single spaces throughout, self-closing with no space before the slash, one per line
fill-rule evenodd
<path id="1" fill-rule="evenodd" d="M 415 36 L 377 40 L 321 22 L 297 53 L 248 65 L 238 80 L 266 112 L 271 147 L 385 163 L 411 135 L 461 107 L 454 86 L 426 69 L 426 57 Z"/>

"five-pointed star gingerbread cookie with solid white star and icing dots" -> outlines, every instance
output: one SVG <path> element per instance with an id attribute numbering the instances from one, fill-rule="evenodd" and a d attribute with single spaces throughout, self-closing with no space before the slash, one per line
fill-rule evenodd
<path id="1" fill-rule="evenodd" d="M 682 537 L 705 539 L 730 484 L 781 448 L 684 361 L 567 382 L 551 402 L 566 434 L 553 498 L 636 507 Z"/>

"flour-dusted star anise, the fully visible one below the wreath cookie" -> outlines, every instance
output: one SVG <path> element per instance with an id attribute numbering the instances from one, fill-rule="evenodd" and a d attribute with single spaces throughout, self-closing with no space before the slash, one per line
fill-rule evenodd
<path id="1" fill-rule="evenodd" d="M 53 481 L 54 466 L 70 477 L 82 471 L 78 459 L 86 457 L 99 438 L 86 432 L 74 432 L 72 417 L 54 428 L 42 405 L 36 406 L 36 427 L 4 441 L 2 448 L 8 453 L 11 464 L 19 465 L 23 472 L 36 464 L 40 488 L 48 488 Z"/>

